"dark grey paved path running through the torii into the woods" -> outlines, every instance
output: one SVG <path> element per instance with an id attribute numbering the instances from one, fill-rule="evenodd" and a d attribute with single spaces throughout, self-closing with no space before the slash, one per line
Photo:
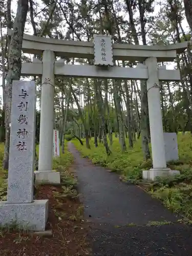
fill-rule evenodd
<path id="1" fill-rule="evenodd" d="M 192 229 L 178 223 L 158 200 L 135 185 L 119 181 L 114 173 L 80 157 L 74 145 L 78 189 L 91 222 L 89 237 L 97 256 L 191 256 Z M 170 225 L 148 226 L 152 222 Z"/>

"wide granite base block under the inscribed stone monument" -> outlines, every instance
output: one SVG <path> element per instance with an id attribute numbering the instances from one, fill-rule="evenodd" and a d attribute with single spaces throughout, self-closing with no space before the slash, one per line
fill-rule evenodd
<path id="1" fill-rule="evenodd" d="M 19 229 L 44 231 L 48 219 L 49 200 L 10 204 L 0 202 L 0 226 L 16 225 Z"/>

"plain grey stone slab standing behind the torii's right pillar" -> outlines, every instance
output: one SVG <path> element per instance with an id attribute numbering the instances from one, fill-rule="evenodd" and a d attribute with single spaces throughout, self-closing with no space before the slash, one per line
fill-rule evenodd
<path id="1" fill-rule="evenodd" d="M 165 143 L 165 157 L 166 161 L 178 160 L 178 144 L 176 133 L 163 133 Z"/>

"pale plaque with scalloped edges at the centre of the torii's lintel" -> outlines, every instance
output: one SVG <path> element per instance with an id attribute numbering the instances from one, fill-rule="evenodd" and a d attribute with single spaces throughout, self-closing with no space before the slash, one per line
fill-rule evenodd
<path id="1" fill-rule="evenodd" d="M 96 66 L 114 66 L 111 35 L 94 35 Z"/>

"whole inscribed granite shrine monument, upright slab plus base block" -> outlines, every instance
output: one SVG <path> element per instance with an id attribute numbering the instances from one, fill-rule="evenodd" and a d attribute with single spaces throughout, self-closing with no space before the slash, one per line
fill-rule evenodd
<path id="1" fill-rule="evenodd" d="M 35 104 L 35 82 L 13 81 L 8 193 L 0 202 L 0 226 L 45 230 L 48 200 L 33 201 Z"/>

